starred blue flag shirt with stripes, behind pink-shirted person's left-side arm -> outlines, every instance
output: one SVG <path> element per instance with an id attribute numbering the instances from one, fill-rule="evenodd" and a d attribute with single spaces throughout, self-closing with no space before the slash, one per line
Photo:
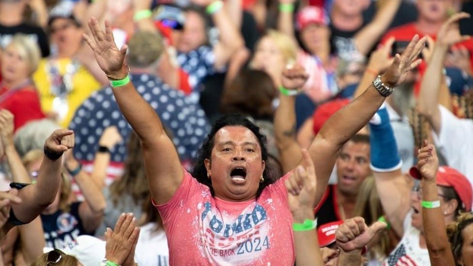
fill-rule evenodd
<path id="1" fill-rule="evenodd" d="M 132 74 L 133 85 L 158 113 L 163 125 L 173 132 L 173 142 L 184 166 L 188 166 L 200 148 L 210 125 L 199 104 L 190 101 L 182 92 L 164 84 L 150 74 Z M 111 150 L 106 184 L 123 173 L 126 143 L 132 131 L 120 112 L 110 87 L 101 89 L 86 99 L 77 109 L 69 128 L 75 132 L 74 156 L 82 162 L 86 172 L 92 172 L 98 141 L 104 129 L 115 125 L 124 141 Z M 78 194 L 78 188 L 73 184 Z"/>

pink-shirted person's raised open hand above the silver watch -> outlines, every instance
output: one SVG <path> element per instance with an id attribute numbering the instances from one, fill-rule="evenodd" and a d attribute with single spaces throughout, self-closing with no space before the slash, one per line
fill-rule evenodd
<path id="1" fill-rule="evenodd" d="M 419 35 L 415 34 L 402 55 L 396 54 L 393 63 L 386 73 L 381 77 L 384 84 L 389 87 L 396 87 L 408 76 L 411 69 L 417 67 L 422 60 L 417 59 L 422 49 L 426 45 L 426 37 L 419 40 Z"/>

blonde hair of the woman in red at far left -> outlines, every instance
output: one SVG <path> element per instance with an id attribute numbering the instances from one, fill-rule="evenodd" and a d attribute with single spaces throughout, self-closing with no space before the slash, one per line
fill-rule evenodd
<path id="1" fill-rule="evenodd" d="M 29 76 L 36 71 L 39 61 L 41 60 L 41 51 L 38 45 L 28 37 L 28 35 L 16 33 L 7 47 L 15 48 L 21 59 L 26 61 L 30 68 Z"/>

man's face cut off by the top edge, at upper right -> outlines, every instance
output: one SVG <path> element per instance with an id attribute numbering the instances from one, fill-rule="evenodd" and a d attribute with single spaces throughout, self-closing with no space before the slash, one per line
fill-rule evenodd
<path id="1" fill-rule="evenodd" d="M 451 0 L 417 0 L 419 16 L 432 23 L 445 20 L 447 11 L 451 6 Z"/>

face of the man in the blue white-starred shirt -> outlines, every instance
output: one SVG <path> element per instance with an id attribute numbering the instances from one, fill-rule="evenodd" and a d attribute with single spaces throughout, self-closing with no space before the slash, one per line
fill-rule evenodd
<path id="1" fill-rule="evenodd" d="M 205 21 L 195 12 L 186 13 L 186 24 L 177 42 L 177 50 L 190 52 L 205 44 Z"/>

